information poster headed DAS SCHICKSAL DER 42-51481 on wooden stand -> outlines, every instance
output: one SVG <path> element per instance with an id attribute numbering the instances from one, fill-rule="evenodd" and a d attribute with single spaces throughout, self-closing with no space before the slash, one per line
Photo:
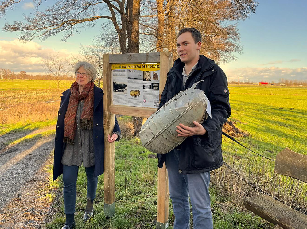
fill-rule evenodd
<path id="1" fill-rule="evenodd" d="M 159 106 L 160 64 L 112 64 L 113 104 Z"/>

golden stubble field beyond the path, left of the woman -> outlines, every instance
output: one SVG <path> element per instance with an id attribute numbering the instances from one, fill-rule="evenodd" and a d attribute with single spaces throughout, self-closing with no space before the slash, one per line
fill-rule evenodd
<path id="1" fill-rule="evenodd" d="M 0 82 L 0 135 L 35 130 L 56 124 L 61 92 L 51 80 L 10 80 Z"/>

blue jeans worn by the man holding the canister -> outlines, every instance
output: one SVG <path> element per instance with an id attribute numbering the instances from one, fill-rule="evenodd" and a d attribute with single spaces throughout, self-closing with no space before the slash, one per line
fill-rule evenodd
<path id="1" fill-rule="evenodd" d="M 175 216 L 174 229 L 190 228 L 189 196 L 193 210 L 193 228 L 213 229 L 209 196 L 210 172 L 178 173 L 180 153 L 184 152 L 174 149 L 165 155 L 169 176 L 169 196 Z"/>

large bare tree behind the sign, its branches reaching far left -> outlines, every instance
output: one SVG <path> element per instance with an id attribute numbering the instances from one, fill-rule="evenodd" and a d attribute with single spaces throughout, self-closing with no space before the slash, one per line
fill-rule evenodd
<path id="1" fill-rule="evenodd" d="M 25 22 L 15 21 L 11 25 L 6 23 L 3 29 L 21 32 L 19 39 L 22 41 L 31 41 L 37 37 L 44 40 L 64 32 L 62 40 L 66 41 L 73 33 L 79 32 L 78 25 L 85 28 L 88 22 L 105 18 L 111 20 L 118 34 L 121 52 L 139 52 L 140 0 L 57 0 L 45 11 L 38 10 L 41 0 L 33 2 L 36 3 L 33 17 L 24 15 Z M 0 17 L 8 9 L 14 9 L 17 3 L 20 1 L 0 2 Z"/>

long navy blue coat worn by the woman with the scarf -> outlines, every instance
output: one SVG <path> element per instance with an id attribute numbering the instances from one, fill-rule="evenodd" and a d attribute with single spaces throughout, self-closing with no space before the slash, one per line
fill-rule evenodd
<path id="1" fill-rule="evenodd" d="M 63 142 L 64 118 L 71 95 L 70 89 L 64 91 L 62 94 L 54 142 L 53 180 L 56 180 L 56 178 L 63 173 L 61 160 L 66 145 L 66 143 Z M 120 128 L 115 117 L 113 132 L 117 131 L 120 132 Z M 94 176 L 96 177 L 104 172 L 103 90 L 96 86 L 94 86 L 93 140 L 95 153 Z"/>

